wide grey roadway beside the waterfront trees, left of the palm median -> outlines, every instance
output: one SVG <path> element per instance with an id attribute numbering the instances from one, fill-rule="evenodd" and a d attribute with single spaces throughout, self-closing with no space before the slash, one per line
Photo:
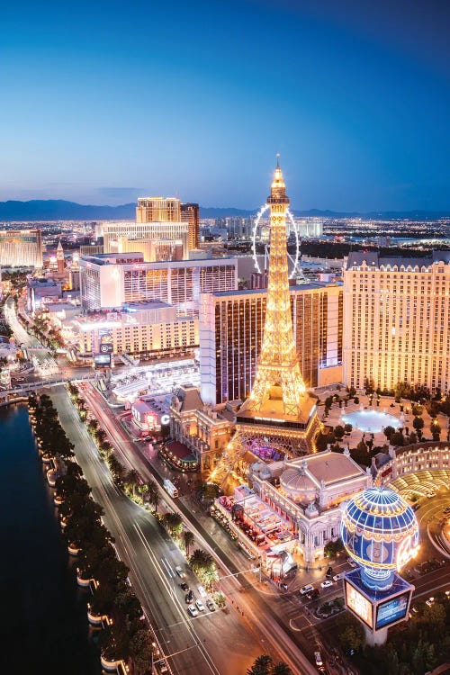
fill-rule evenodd
<path id="1" fill-rule="evenodd" d="M 130 567 L 130 579 L 142 606 L 157 628 L 159 644 L 165 654 L 182 652 L 168 660 L 174 673 L 245 673 L 262 653 L 251 632 L 229 611 L 204 612 L 193 625 L 177 579 L 168 576 L 161 562 L 166 559 L 175 570 L 176 564 L 184 565 L 182 554 L 156 519 L 128 500 L 114 485 L 67 392 L 58 388 L 52 398 L 61 424 L 76 445 L 76 457 L 93 489 L 94 499 L 105 510 L 105 525 L 115 537 L 117 551 Z M 194 588 L 193 575 L 188 580 Z"/>

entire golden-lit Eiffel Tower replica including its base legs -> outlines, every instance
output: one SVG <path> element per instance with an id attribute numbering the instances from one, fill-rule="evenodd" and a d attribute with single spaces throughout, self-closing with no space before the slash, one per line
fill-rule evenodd
<path id="1" fill-rule="evenodd" d="M 286 240 L 290 202 L 279 160 L 267 203 L 270 255 L 263 341 L 252 391 L 238 410 L 236 433 L 211 473 L 211 480 L 220 483 L 248 452 L 256 455 L 256 462 L 261 456 L 260 446 L 272 447 L 277 455 L 288 457 L 311 453 L 320 428 L 316 401 L 303 383 L 293 339 Z"/>

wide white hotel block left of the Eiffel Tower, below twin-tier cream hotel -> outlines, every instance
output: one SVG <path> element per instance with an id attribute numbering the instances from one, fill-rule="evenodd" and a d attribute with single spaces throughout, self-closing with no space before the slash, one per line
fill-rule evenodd
<path id="1" fill-rule="evenodd" d="M 141 253 L 81 257 L 81 305 L 85 311 L 124 302 L 159 300 L 178 315 L 198 314 L 200 294 L 237 288 L 236 258 L 146 263 Z"/>

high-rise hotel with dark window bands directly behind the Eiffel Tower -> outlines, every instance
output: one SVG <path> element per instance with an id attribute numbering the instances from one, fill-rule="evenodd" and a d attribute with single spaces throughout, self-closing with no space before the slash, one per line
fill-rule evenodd
<path id="1" fill-rule="evenodd" d="M 340 285 L 291 286 L 293 338 L 308 387 L 342 382 Z M 200 369 L 202 400 L 245 401 L 261 351 L 266 290 L 202 295 Z"/>

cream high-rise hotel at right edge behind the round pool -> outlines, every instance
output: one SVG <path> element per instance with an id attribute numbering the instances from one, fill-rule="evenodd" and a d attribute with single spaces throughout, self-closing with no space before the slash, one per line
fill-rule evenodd
<path id="1" fill-rule="evenodd" d="M 450 251 L 350 253 L 344 271 L 344 382 L 450 391 Z"/>

